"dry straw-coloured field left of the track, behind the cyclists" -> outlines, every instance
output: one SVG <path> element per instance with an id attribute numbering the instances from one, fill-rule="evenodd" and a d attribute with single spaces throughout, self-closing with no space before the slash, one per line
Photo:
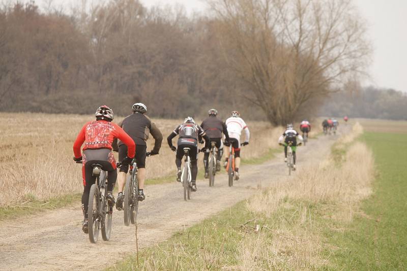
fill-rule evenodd
<path id="1" fill-rule="evenodd" d="M 72 160 L 72 146 L 82 125 L 92 119 L 93 116 L 80 115 L 2 113 L 0 188 L 3 196 L 0 206 L 80 193 L 81 170 Z M 117 117 L 117 121 L 121 119 Z M 182 120 L 154 121 L 164 140 L 160 155 L 147 158 L 147 173 L 148 178 L 162 178 L 175 173 L 175 155 L 168 148 L 166 137 Z M 243 157 L 258 157 L 277 146 L 282 128 L 273 128 L 266 122 L 249 122 L 248 125 L 252 139 L 251 144 L 242 149 Z M 199 166 L 202 166 L 201 161 Z"/>

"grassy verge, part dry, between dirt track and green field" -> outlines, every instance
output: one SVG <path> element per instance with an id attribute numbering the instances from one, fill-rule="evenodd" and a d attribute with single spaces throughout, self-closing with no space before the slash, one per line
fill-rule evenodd
<path id="1" fill-rule="evenodd" d="M 355 131 L 355 130 L 354 130 Z M 360 133 L 353 133 L 355 139 Z M 289 181 L 277 180 L 247 201 L 141 250 L 110 270 L 304 270 L 337 268 L 327 228 L 338 231 L 370 194 L 373 160 L 361 143 L 347 146 Z M 342 161 L 337 165 L 335 156 Z M 358 166 L 361 162 L 363 166 Z M 356 170 L 359 170 L 358 174 Z M 335 227 L 336 226 L 336 227 Z M 340 266 L 340 265 L 339 265 Z M 334 268 L 334 269 L 335 269 Z M 341 268 L 338 268 L 341 269 Z"/>

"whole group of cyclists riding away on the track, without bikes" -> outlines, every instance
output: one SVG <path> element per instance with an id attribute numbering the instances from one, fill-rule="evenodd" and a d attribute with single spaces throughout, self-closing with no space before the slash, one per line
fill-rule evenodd
<path id="1" fill-rule="evenodd" d="M 114 114 L 108 106 L 100 106 L 95 113 L 96 120 L 83 125 L 74 145 L 74 160 L 82 162 L 82 212 L 83 224 L 82 230 L 88 233 L 88 202 L 89 191 L 96 177 L 92 174 L 92 165 L 100 164 L 102 170 L 107 172 L 107 204 L 109 208 L 114 205 L 117 210 L 123 210 L 124 194 L 123 189 L 126 184 L 126 175 L 129 171 L 129 164 L 135 159 L 138 171 L 138 194 L 137 199 L 142 201 L 146 198 L 143 187 L 146 180 L 146 157 L 159 154 L 163 140 L 160 129 L 146 115 L 147 106 L 142 103 L 136 103 L 132 106 L 132 114 L 125 117 L 119 124 L 113 123 Z M 191 158 L 191 191 L 197 191 L 196 176 L 198 172 L 197 159 L 198 153 L 203 152 L 203 165 L 205 168 L 205 178 L 208 178 L 208 158 L 211 142 L 215 143 L 218 149 L 216 157 L 216 171 L 221 169 L 221 158 L 225 152 L 225 161 L 223 166 L 228 164 L 229 148 L 223 146 L 232 146 L 235 153 L 235 180 L 239 180 L 240 166 L 240 147 L 249 144 L 250 131 L 246 122 L 240 117 L 239 112 L 232 111 L 230 117 L 223 122 L 217 117 L 218 111 L 210 109 L 208 117 L 198 125 L 192 117 L 185 118 L 184 122 L 178 125 L 167 137 L 169 148 L 176 152 L 176 166 L 178 182 L 181 182 L 181 163 L 184 156 L 184 148 L 189 148 Z M 329 122 L 330 121 L 330 122 Z M 335 120 L 324 120 L 328 125 L 335 126 Z M 331 123 L 331 124 L 329 124 Z M 336 124 L 337 125 L 337 124 Z M 300 123 L 302 135 L 298 133 L 293 124 L 287 124 L 286 130 L 278 139 L 278 143 L 284 146 L 284 161 L 287 160 L 287 148 L 291 147 L 293 151 L 294 168 L 296 167 L 296 147 L 302 144 L 303 137 L 308 136 L 311 131 L 311 124 L 308 120 Z M 242 131 L 245 132 L 245 141 L 241 143 Z M 155 143 L 150 152 L 147 152 L 147 140 L 150 134 Z M 172 144 L 172 140 L 178 136 L 177 146 Z M 297 140 L 298 139 L 298 140 Z M 199 149 L 198 144 L 205 144 Z M 80 147 L 82 148 L 82 153 Z M 119 174 L 117 173 L 117 163 L 113 156 L 113 151 L 119 152 Z M 116 200 L 112 194 L 115 183 L 118 183 L 118 195 Z"/>

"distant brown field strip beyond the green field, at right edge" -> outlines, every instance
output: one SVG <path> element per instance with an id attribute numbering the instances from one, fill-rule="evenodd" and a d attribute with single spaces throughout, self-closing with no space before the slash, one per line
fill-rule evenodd
<path id="1" fill-rule="evenodd" d="M 366 131 L 407 133 L 407 121 L 381 120 L 381 119 L 357 119 Z"/>

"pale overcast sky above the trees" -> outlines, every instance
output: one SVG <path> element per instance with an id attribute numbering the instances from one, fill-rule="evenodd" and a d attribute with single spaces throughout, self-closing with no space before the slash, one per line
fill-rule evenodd
<path id="1" fill-rule="evenodd" d="M 28 0 L 26 0 L 28 1 Z M 97 0 L 96 0 L 97 1 Z M 20 1 L 21 2 L 21 1 Z M 46 0 L 36 0 L 40 7 Z M 81 3 L 80 0 L 54 0 L 55 3 Z M 204 13 L 202 0 L 140 0 L 145 6 L 179 3 L 186 11 Z M 394 88 L 407 92 L 407 0 L 354 0 L 368 21 L 374 47 L 371 80 L 364 85 Z"/>

